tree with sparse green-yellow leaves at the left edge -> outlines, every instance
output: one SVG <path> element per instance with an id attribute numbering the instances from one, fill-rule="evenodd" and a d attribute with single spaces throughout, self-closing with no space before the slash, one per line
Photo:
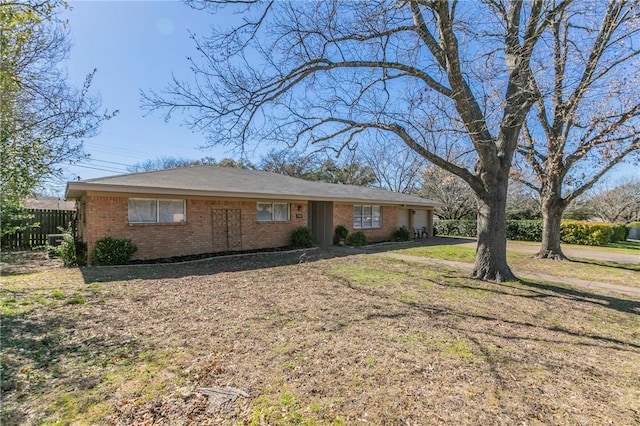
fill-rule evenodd
<path id="1" fill-rule="evenodd" d="M 23 201 L 59 165 L 84 156 L 82 138 L 109 114 L 89 94 L 94 73 L 72 87 L 59 67 L 69 44 L 61 1 L 0 4 L 0 152 L 2 233 L 20 223 Z M 95 71 L 94 71 L 95 72 Z"/>

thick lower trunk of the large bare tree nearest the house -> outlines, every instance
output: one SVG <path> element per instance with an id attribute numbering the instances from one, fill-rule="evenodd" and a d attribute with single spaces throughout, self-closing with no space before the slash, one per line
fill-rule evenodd
<path id="1" fill-rule="evenodd" d="M 478 198 L 478 247 L 471 276 L 479 280 L 514 281 L 516 276 L 507 265 L 506 202 L 504 188 Z"/>

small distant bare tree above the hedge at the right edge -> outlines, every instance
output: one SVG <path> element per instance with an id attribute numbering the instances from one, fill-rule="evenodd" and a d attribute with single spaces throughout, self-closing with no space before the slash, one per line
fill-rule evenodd
<path id="1" fill-rule="evenodd" d="M 602 188 L 588 205 L 593 215 L 605 222 L 640 220 L 640 179 L 625 179 L 612 188 Z"/>

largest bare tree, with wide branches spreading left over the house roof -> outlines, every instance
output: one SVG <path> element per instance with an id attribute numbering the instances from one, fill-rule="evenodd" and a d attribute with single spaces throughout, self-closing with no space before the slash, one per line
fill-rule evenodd
<path id="1" fill-rule="evenodd" d="M 531 58 L 570 0 L 192 3 L 242 7 L 242 22 L 197 40 L 195 80 L 174 76 L 166 90 L 143 93 L 143 106 L 166 118 L 186 112 L 212 145 L 286 141 L 340 152 L 358 137 L 400 141 L 476 194 L 472 276 L 515 278 L 505 204 L 539 96 Z M 434 145 L 433 133 L 449 135 L 447 145 Z M 464 161 L 447 159 L 453 145 Z"/>

